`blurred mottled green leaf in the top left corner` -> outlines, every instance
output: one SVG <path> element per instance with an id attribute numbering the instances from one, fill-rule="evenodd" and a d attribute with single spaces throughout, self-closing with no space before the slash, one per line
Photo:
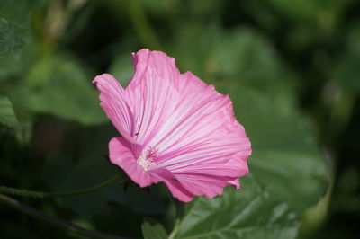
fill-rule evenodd
<path id="1" fill-rule="evenodd" d="M 0 83 L 14 84 L 17 78 L 14 76 L 27 72 L 27 67 L 39 56 L 40 42 L 33 37 L 30 23 L 31 10 L 37 3 L 37 0 L 0 1 Z M 6 86 L 1 90 L 11 91 Z"/>

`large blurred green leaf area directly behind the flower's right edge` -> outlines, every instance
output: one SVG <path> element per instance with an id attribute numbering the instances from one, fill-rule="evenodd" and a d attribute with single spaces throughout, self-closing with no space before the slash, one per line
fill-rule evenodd
<path id="1" fill-rule="evenodd" d="M 297 78 L 254 31 L 212 28 L 197 39 L 202 49 L 193 54 L 202 56 L 202 79 L 229 93 L 252 143 L 250 172 L 297 212 L 311 207 L 327 189 L 327 165 L 311 121 L 297 110 Z"/>

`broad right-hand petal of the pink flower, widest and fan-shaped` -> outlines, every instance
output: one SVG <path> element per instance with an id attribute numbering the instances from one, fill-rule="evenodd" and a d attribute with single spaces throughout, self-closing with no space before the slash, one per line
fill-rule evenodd
<path id="1" fill-rule="evenodd" d="M 182 76 L 188 86 L 183 90 L 186 97 L 153 139 L 157 143 L 152 146 L 159 149 L 153 167 L 175 174 L 245 175 L 250 141 L 233 115 L 229 97 L 199 84 L 200 80 L 191 73 Z M 197 98 L 199 95 L 202 97 Z"/>

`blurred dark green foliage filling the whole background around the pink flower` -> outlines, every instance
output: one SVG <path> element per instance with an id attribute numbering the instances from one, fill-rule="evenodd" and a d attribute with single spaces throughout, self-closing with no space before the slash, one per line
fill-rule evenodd
<path id="1" fill-rule="evenodd" d="M 126 85 L 130 52 L 159 49 L 229 94 L 253 146 L 242 191 L 184 205 L 162 184 L 122 181 L 17 199 L 109 235 L 356 238 L 359 11 L 351 0 L 2 0 L 1 186 L 76 190 L 122 173 L 103 157 L 118 132 L 91 81 L 108 72 Z M 0 212 L 1 238 L 78 236 Z"/>

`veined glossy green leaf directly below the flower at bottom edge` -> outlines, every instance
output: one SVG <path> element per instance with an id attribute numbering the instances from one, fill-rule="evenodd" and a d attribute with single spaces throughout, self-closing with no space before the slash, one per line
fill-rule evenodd
<path id="1" fill-rule="evenodd" d="M 286 203 L 274 200 L 251 175 L 241 183 L 241 191 L 227 187 L 214 199 L 194 199 L 173 238 L 294 238 L 298 222 Z"/>

